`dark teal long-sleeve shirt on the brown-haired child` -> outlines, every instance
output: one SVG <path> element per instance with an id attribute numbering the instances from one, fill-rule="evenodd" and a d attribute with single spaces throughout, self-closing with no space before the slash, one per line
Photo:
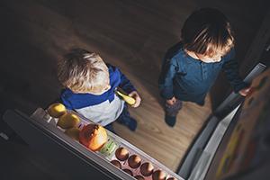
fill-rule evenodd
<path id="1" fill-rule="evenodd" d="M 220 62 L 205 63 L 187 55 L 180 42 L 166 52 L 158 79 L 160 94 L 165 99 L 175 96 L 182 101 L 203 104 L 221 69 L 236 93 L 248 86 L 238 75 L 234 49 Z"/>

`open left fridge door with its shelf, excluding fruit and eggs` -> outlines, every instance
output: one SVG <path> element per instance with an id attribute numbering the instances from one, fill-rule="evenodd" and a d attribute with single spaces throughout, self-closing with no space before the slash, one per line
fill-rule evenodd
<path id="1" fill-rule="evenodd" d="M 89 123 L 93 123 L 76 112 L 69 112 L 75 113 L 79 117 L 79 129 L 82 129 Z M 51 117 L 48 111 L 42 108 L 38 108 L 31 116 L 20 111 L 7 111 L 4 114 L 4 120 L 32 148 L 37 149 L 42 153 L 43 157 L 48 158 L 54 165 L 59 167 L 59 171 L 62 171 L 65 176 L 60 175 L 58 178 L 150 180 L 153 179 L 152 176 L 155 176 L 154 172 L 156 170 L 161 170 L 166 175 L 163 178 L 164 180 L 183 179 L 156 159 L 148 156 L 148 154 L 128 141 L 121 139 L 121 137 L 110 130 L 106 130 L 108 139 L 103 146 L 107 149 L 101 148 L 99 151 L 92 151 L 76 139 L 67 136 L 64 130 L 57 126 L 58 118 Z M 119 160 L 115 156 L 118 148 L 127 149 L 129 152 L 128 157 L 132 155 L 140 157 L 140 166 L 131 168 L 129 158 L 122 161 Z M 114 166 L 112 164 L 113 160 L 119 162 L 121 167 Z M 148 175 L 142 175 L 140 169 L 146 162 L 150 163 L 154 168 Z"/>

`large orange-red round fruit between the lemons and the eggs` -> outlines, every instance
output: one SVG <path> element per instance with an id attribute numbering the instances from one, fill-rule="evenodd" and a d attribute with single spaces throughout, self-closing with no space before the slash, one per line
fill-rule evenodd
<path id="1" fill-rule="evenodd" d="M 107 140 L 106 130 L 98 124 L 87 124 L 79 133 L 79 142 L 93 151 L 103 148 Z"/>

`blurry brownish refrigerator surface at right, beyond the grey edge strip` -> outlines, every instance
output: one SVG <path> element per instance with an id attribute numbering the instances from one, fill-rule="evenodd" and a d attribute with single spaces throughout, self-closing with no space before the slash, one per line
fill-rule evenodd
<path id="1" fill-rule="evenodd" d="M 270 178 L 270 69 L 257 76 L 251 87 L 212 159 L 207 180 Z"/>

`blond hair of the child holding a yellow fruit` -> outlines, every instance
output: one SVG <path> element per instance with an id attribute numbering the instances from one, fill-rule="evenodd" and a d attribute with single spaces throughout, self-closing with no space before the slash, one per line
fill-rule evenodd
<path id="1" fill-rule="evenodd" d="M 74 93 L 98 94 L 110 84 L 103 59 L 85 49 L 72 49 L 58 61 L 58 80 Z"/>

